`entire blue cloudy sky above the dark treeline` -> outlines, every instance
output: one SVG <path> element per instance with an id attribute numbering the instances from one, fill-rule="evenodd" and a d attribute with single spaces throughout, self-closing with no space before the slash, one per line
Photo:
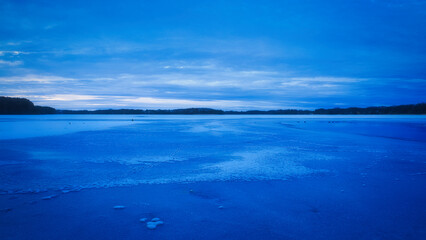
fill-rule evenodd
<path id="1" fill-rule="evenodd" d="M 0 96 L 58 109 L 426 102 L 426 0 L 0 0 Z"/>

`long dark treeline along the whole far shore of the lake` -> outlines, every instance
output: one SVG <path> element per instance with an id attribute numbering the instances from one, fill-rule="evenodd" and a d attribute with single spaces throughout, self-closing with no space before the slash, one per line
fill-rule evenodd
<path id="1" fill-rule="evenodd" d="M 331 108 L 316 110 L 249 110 L 249 111 L 223 111 L 211 108 L 185 108 L 173 110 L 139 110 L 139 109 L 109 109 L 109 110 L 56 110 L 51 107 L 35 106 L 25 98 L 0 97 L 0 114 L 426 114 L 426 103 L 399 105 L 390 107 L 367 108 Z"/>

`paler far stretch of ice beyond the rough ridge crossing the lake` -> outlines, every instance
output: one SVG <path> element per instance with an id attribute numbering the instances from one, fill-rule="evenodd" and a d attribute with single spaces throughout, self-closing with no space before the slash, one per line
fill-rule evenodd
<path id="1" fill-rule="evenodd" d="M 0 119 L 3 194 L 334 174 L 335 165 L 329 163 L 384 158 L 392 154 L 389 149 L 408 147 L 413 154 L 424 155 L 426 141 L 423 116 L 340 116 L 337 121 L 333 116 L 334 124 L 324 116 L 55 115 Z M 62 135 L 49 132 L 44 136 L 37 127 L 28 136 L 22 134 L 22 126 L 31 129 L 69 122 L 86 125 Z M 403 133 L 392 137 L 398 132 Z M 373 160 L 369 166 L 376 163 Z M 421 169 L 412 174 L 419 172 Z"/>

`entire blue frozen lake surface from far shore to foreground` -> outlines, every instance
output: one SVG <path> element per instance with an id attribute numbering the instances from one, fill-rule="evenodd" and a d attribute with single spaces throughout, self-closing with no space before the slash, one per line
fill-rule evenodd
<path id="1" fill-rule="evenodd" d="M 426 239 L 426 116 L 0 116 L 0 179 L 0 239 Z"/>

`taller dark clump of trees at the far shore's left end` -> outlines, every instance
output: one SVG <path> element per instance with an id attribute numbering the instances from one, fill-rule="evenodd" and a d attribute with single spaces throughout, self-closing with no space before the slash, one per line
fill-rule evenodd
<path id="1" fill-rule="evenodd" d="M 54 114 L 56 109 L 35 106 L 26 98 L 0 97 L 0 114 Z"/>

